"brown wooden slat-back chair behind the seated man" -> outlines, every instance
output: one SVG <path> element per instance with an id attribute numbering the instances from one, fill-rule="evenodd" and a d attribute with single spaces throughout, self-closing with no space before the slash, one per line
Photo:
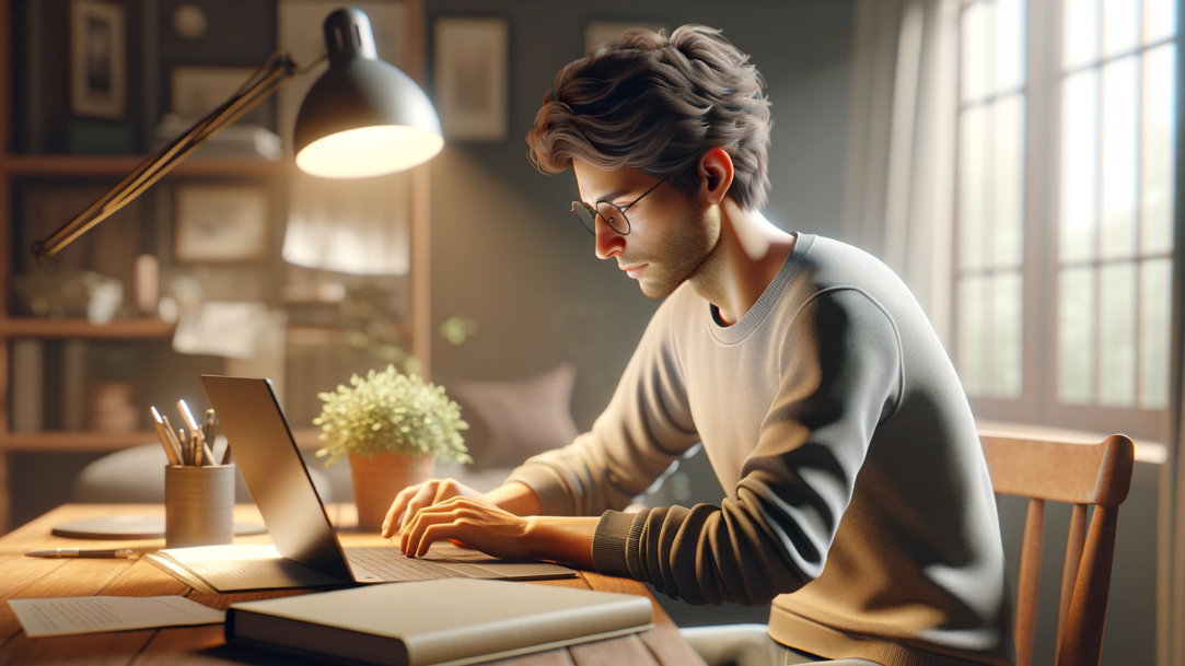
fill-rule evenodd
<path id="1" fill-rule="evenodd" d="M 1123 435 L 1096 444 L 992 433 L 981 433 L 980 441 L 997 494 L 1030 500 L 1016 597 L 1017 665 L 1032 664 L 1045 502 L 1057 501 L 1074 507 L 1062 570 L 1055 664 L 1097 666 L 1119 505 L 1132 486 L 1135 446 Z"/>

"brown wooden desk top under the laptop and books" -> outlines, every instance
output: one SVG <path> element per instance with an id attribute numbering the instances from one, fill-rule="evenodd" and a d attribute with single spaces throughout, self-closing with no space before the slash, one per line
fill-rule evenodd
<path id="1" fill-rule="evenodd" d="M 342 524 L 351 520 L 352 507 L 332 507 L 334 518 Z M 156 596 L 182 595 L 210 606 L 226 608 L 236 601 L 297 594 L 293 590 L 265 593 L 204 594 L 165 574 L 142 557 L 133 559 L 43 559 L 24 553 L 46 547 L 133 547 L 145 551 L 164 547 L 164 539 L 147 540 L 82 540 L 55 537 L 53 525 L 66 520 L 116 513 L 164 513 L 153 505 L 64 505 L 40 518 L 0 537 L 0 598 L 62 597 L 82 595 Z M 239 520 L 258 521 L 255 506 L 236 508 Z M 383 543 L 374 534 L 342 532 L 347 545 Z M 265 537 L 244 537 L 243 543 Z M 583 572 L 566 581 L 521 584 L 553 584 L 594 590 L 608 590 L 649 596 L 646 587 L 636 581 Z M 654 628 L 629 636 L 571 646 L 536 653 L 494 664 L 507 666 L 685 666 L 703 664 L 683 641 L 678 629 L 664 610 L 654 606 Z M 192 664 L 251 664 L 256 666 L 322 664 L 294 659 L 292 655 L 229 646 L 223 640 L 222 625 L 113 632 L 30 639 L 7 604 L 0 604 L 0 665 L 88 664 L 156 665 Z"/>

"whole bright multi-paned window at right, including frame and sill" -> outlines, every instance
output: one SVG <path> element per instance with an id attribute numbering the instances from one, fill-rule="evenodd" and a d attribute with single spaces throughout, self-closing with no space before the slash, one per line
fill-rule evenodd
<path id="1" fill-rule="evenodd" d="M 1161 435 L 1177 0 L 966 0 L 953 352 L 980 417 Z"/>

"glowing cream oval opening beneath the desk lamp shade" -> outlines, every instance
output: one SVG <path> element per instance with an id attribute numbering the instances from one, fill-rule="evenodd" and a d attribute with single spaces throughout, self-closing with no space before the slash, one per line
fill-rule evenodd
<path id="1" fill-rule="evenodd" d="M 366 178 L 421 165 L 443 146 L 441 135 L 427 129 L 360 127 L 309 143 L 296 154 L 296 166 L 321 178 Z"/>

